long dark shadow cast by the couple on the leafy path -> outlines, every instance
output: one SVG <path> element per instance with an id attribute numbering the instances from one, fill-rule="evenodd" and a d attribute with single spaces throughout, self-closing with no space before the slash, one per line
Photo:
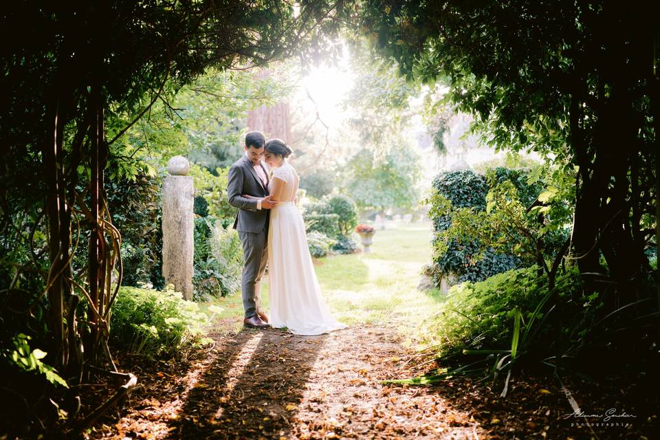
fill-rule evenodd
<path id="1" fill-rule="evenodd" d="M 223 340 L 170 421 L 169 438 L 287 437 L 326 337 L 243 329 Z"/>

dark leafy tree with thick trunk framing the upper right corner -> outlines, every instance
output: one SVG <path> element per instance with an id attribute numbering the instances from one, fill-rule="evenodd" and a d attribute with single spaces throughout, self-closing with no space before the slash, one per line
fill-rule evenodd
<path id="1" fill-rule="evenodd" d="M 645 248 L 660 245 L 657 12 L 602 0 L 364 5 L 373 43 L 410 78 L 448 78 L 446 99 L 487 142 L 577 171 L 567 250 L 591 289 L 613 283 L 606 311 L 650 294 Z"/>

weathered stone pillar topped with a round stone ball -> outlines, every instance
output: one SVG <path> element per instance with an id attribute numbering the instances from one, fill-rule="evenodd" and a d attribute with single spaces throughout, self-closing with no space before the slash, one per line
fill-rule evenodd
<path id="1" fill-rule="evenodd" d="M 173 284 L 186 300 L 192 300 L 195 188 L 185 157 L 172 157 L 167 170 L 170 175 L 163 185 L 163 277 L 166 285 Z"/>

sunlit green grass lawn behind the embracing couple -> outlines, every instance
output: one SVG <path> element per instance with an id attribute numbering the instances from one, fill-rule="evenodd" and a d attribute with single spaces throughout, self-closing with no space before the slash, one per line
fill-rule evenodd
<path id="1" fill-rule="evenodd" d="M 372 251 L 329 256 L 316 261 L 316 274 L 334 316 L 347 325 L 387 322 L 412 337 L 437 308 L 438 294 L 419 292 L 421 267 L 431 260 L 430 223 L 393 223 L 377 230 Z M 268 309 L 268 283 L 263 283 Z M 241 327 L 240 292 L 204 305 L 224 310 L 217 315 L 231 327 Z"/>

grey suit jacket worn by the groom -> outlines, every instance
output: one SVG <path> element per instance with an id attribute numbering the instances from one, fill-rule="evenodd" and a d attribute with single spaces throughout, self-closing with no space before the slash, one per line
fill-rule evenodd
<path id="1" fill-rule="evenodd" d="M 268 179 L 268 173 L 265 174 L 266 179 Z M 243 194 L 260 198 L 268 195 L 267 183 L 264 188 L 259 175 L 252 167 L 252 162 L 245 155 L 241 156 L 241 159 L 238 159 L 229 168 L 227 198 L 231 206 L 239 208 L 234 220 L 234 229 L 239 232 L 261 232 L 265 230 L 268 226 L 270 210 L 256 209 L 256 200 L 243 197 Z"/>

